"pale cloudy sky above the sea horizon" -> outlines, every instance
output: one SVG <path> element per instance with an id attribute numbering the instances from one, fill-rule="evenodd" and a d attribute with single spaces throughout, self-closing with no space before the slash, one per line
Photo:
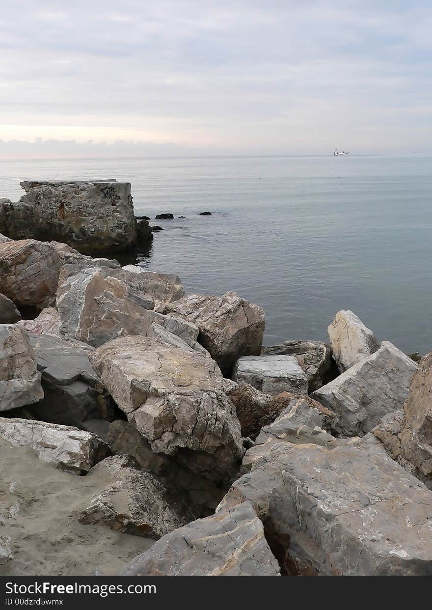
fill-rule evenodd
<path id="1" fill-rule="evenodd" d="M 432 4 L 2 0 L 0 158 L 432 152 Z"/>

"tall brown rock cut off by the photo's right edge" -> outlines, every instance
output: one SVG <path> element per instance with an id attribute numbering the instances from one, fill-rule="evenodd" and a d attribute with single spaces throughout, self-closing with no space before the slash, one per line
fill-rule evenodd
<path id="1" fill-rule="evenodd" d="M 432 486 L 432 352 L 420 361 L 403 409 L 403 457 L 413 465 L 416 476 Z"/>

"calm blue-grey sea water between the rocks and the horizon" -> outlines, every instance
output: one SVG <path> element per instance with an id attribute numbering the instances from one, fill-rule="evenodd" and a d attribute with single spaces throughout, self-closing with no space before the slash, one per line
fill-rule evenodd
<path id="1" fill-rule="evenodd" d="M 136 215 L 186 217 L 154 223 L 165 230 L 139 264 L 179 274 L 188 292 L 260 304 L 266 345 L 325 340 L 335 312 L 352 309 L 379 339 L 426 353 L 431 170 L 414 154 L 0 161 L 0 197 L 18 199 L 23 179 L 131 182 Z"/>

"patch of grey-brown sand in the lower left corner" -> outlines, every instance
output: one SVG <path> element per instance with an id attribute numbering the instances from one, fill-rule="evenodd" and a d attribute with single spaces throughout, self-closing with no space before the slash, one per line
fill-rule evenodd
<path id="1" fill-rule="evenodd" d="M 14 558 L 0 575 L 88 575 L 118 570 L 152 544 L 77 516 L 104 489 L 101 476 L 77 476 L 41 462 L 30 448 L 0 440 L 0 534 L 12 539 Z"/>

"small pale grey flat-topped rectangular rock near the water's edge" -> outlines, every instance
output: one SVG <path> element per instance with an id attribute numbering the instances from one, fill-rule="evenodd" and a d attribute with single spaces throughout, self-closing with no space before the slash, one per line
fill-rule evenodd
<path id="1" fill-rule="evenodd" d="M 271 396 L 308 393 L 308 380 L 294 356 L 243 356 L 235 364 L 233 379 Z"/>

